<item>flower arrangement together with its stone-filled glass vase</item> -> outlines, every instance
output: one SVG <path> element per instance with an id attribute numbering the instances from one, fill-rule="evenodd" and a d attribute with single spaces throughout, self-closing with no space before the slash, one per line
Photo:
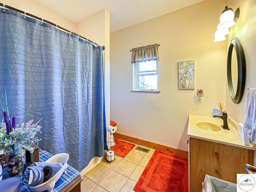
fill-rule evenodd
<path id="1" fill-rule="evenodd" d="M 3 119 L 0 122 L 0 149 L 5 149 L 8 152 L 4 154 L 4 159 L 1 154 L 1 165 L 8 166 L 7 173 L 10 177 L 19 176 L 24 168 L 21 158 L 24 155 L 24 149 L 32 153 L 34 152 L 34 147 L 31 146 L 32 142 L 38 144 L 40 141 L 35 136 L 40 132 L 41 126 L 38 125 L 38 122 L 42 119 L 36 124 L 32 124 L 33 120 L 25 124 L 16 124 L 16 117 L 9 114 L 6 91 L 3 99 L 3 101 L 0 100 L 3 112 Z"/>

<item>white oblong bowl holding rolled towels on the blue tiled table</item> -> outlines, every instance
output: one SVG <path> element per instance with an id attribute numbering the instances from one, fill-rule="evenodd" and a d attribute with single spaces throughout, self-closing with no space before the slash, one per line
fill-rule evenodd
<path id="1" fill-rule="evenodd" d="M 45 190 L 48 190 L 49 192 L 52 192 L 55 183 L 58 181 L 58 179 L 60 178 L 60 176 L 62 175 L 62 173 L 64 171 L 66 171 L 66 168 L 68 167 L 67 161 L 69 158 L 69 154 L 67 153 L 60 153 L 60 154 L 56 154 L 54 156 L 52 156 L 51 158 L 49 158 L 48 160 L 46 160 L 45 162 L 48 163 L 64 163 L 64 165 L 62 166 L 62 168 L 52 177 L 50 178 L 48 181 L 34 186 L 34 187 L 30 187 L 34 192 L 42 192 Z"/>

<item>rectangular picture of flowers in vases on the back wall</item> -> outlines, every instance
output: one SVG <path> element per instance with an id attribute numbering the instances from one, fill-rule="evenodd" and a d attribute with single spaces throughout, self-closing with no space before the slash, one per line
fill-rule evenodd
<path id="1" fill-rule="evenodd" d="M 180 61 L 179 89 L 195 89 L 195 60 Z"/>

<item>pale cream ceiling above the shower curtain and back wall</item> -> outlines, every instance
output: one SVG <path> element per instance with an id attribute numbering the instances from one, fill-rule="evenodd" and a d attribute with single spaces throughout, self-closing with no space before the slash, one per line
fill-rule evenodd
<path id="1" fill-rule="evenodd" d="M 102 10 L 110 12 L 110 32 L 204 0 L 33 0 L 79 23 Z"/>

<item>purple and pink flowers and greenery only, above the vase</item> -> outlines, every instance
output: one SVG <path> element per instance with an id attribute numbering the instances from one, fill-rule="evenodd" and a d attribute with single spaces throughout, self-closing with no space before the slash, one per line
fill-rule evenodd
<path id="1" fill-rule="evenodd" d="M 16 124 L 16 117 L 13 116 L 11 118 L 11 115 L 9 114 L 6 92 L 3 98 L 3 102 L 0 100 L 3 111 L 3 120 L 0 123 L 0 149 L 6 148 L 18 157 L 22 157 L 24 155 L 24 149 L 32 153 L 34 148 L 28 143 L 33 142 L 38 144 L 41 140 L 35 136 L 40 132 L 41 126 L 38 125 L 38 122 L 42 119 L 40 119 L 36 124 L 32 124 L 33 120 L 30 120 L 25 124 Z"/>

